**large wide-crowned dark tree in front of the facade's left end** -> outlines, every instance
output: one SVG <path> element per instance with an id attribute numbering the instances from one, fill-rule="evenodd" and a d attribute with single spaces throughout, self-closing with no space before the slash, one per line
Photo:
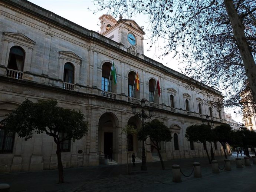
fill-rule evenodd
<path id="1" fill-rule="evenodd" d="M 64 182 L 60 145 L 65 140 L 79 140 L 88 132 L 88 122 L 84 121 L 81 111 L 64 109 L 56 100 L 39 100 L 33 103 L 26 99 L 17 109 L 6 115 L 1 121 L 9 132 L 16 132 L 20 138 L 28 140 L 33 133 L 52 136 L 57 145 L 59 183 Z M 65 133 L 60 138 L 60 133 Z"/>

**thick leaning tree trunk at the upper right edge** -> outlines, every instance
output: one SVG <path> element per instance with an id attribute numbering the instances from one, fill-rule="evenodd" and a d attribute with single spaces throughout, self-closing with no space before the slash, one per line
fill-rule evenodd
<path id="1" fill-rule="evenodd" d="M 227 14 L 229 16 L 229 20 L 232 24 L 234 37 L 236 39 L 240 55 L 243 60 L 246 75 L 250 83 L 250 88 L 252 90 L 252 96 L 254 98 L 254 101 L 256 102 L 256 66 L 252 56 L 251 48 L 248 45 L 244 34 L 244 26 L 234 7 L 233 0 L 224 0 L 224 4 Z"/>

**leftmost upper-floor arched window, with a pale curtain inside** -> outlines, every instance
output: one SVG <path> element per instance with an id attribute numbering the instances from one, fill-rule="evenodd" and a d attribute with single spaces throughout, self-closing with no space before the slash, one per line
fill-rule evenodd
<path id="1" fill-rule="evenodd" d="M 10 49 L 9 54 L 9 61 L 8 61 L 8 68 L 23 71 L 24 67 L 24 60 L 25 60 L 25 52 L 19 46 L 14 46 Z"/>

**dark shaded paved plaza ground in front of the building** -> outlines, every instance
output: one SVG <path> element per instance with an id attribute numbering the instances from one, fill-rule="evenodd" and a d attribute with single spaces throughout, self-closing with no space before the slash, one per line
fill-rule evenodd
<path id="1" fill-rule="evenodd" d="M 0 174 L 0 183 L 9 183 L 10 192 L 255 192 L 256 165 L 236 168 L 236 154 L 229 156 L 232 171 L 212 173 L 207 158 L 177 159 L 147 163 L 147 171 L 140 171 L 140 163 L 127 174 L 126 165 L 101 165 L 64 169 L 63 184 L 58 184 L 58 170 Z M 241 157 L 243 159 L 244 156 Z M 224 157 L 216 157 L 219 167 L 224 167 Z M 200 162 L 202 178 L 182 175 L 182 182 L 172 182 L 172 165 L 180 165 L 184 175 L 190 175 L 193 162 Z"/>

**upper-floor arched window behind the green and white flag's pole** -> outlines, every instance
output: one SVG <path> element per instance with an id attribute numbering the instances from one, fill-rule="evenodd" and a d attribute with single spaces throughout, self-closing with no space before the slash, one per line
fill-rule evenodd
<path id="1" fill-rule="evenodd" d="M 103 91 L 112 92 L 112 75 L 110 75 L 111 66 L 112 66 L 111 63 L 104 63 L 102 65 L 101 89 Z M 109 79 L 109 76 L 110 76 L 110 79 Z"/>

